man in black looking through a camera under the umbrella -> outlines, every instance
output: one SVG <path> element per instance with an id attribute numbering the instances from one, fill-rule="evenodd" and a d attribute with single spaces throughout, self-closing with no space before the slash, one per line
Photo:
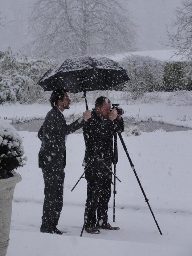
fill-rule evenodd
<path id="1" fill-rule="evenodd" d="M 111 109 L 110 100 L 103 96 L 96 99 L 91 114 L 83 126 L 86 147 L 83 166 L 87 180 L 84 228 L 88 233 L 98 234 L 99 229 L 119 229 L 108 223 L 107 212 L 114 163 L 112 139 L 116 132 L 124 131 L 124 122 L 122 109 Z"/>

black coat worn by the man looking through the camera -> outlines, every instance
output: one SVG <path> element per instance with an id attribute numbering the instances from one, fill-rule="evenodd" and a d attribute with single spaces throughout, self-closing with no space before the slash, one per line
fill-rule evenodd
<path id="1" fill-rule="evenodd" d="M 99 156 L 105 164 L 110 166 L 113 162 L 113 136 L 116 132 L 124 131 L 123 118 L 121 121 L 102 119 L 92 109 L 92 117 L 83 126 L 85 140 L 85 156 L 83 166 L 90 163 L 93 156 Z"/>

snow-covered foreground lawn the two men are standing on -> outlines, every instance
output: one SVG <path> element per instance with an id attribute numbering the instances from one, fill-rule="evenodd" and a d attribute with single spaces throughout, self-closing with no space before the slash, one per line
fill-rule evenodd
<path id="1" fill-rule="evenodd" d="M 67 113 L 67 111 L 66 111 Z M 64 205 L 59 228 L 63 236 L 39 233 L 43 207 L 43 176 L 38 168 L 40 141 L 37 133 L 19 132 L 28 156 L 27 165 L 18 172 L 21 183 L 14 192 L 8 256 L 23 255 L 147 255 L 191 256 L 192 254 L 192 131 L 143 133 L 126 137 L 125 144 L 161 228 L 160 236 L 143 198 L 129 161 L 118 142 L 119 163 L 116 174 L 116 223 L 112 223 L 112 198 L 109 222 L 119 231 L 99 235 L 86 232 L 80 238 L 86 200 L 86 181 L 71 188 L 84 169 L 82 134 L 67 137 Z"/>

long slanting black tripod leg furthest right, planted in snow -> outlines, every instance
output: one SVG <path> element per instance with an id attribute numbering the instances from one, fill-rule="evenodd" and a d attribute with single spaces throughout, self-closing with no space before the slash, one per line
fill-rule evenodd
<path id="1" fill-rule="evenodd" d="M 145 192 L 144 192 L 144 190 L 143 190 L 143 188 L 142 188 L 141 182 L 140 182 L 140 180 L 139 180 L 139 178 L 138 178 L 138 176 L 137 176 L 137 173 L 136 173 L 136 171 L 135 171 L 134 164 L 132 163 L 132 160 L 131 160 L 131 158 L 130 158 L 130 156 L 129 156 L 129 153 L 128 153 L 128 151 L 127 151 L 127 147 L 125 146 L 125 142 L 124 142 L 124 140 L 123 140 L 123 138 L 122 138 L 122 135 L 121 135 L 121 133 L 118 133 L 118 135 L 119 135 L 119 138 L 120 138 L 120 140 L 121 140 L 122 146 L 123 146 L 123 148 L 124 148 L 124 150 L 125 150 L 125 153 L 126 153 L 126 155 L 127 155 L 127 158 L 129 159 L 129 163 L 130 163 L 130 165 L 131 165 L 131 168 L 133 169 L 133 172 L 134 172 L 134 174 L 135 174 L 135 176 L 136 176 L 136 179 L 137 179 L 137 181 L 138 181 L 138 183 L 139 183 L 139 186 L 140 186 L 140 188 L 141 188 L 141 191 L 142 191 L 142 193 L 143 193 L 143 196 L 145 197 L 145 202 L 147 203 L 147 205 L 148 205 L 148 207 L 149 207 L 149 210 L 150 210 L 150 212 L 151 212 L 151 214 L 152 214 L 152 216 L 153 216 L 153 219 L 154 219 L 154 221 L 155 221 L 155 223 L 156 223 L 156 225 L 157 225 L 157 228 L 158 228 L 158 230 L 159 230 L 159 233 L 162 235 L 161 229 L 159 228 L 159 225 L 158 225 L 158 223 L 157 223 L 157 221 L 156 221 L 156 219 L 155 219 L 155 216 L 154 216 L 153 211 L 152 211 L 152 209 L 151 209 L 151 206 L 150 206 L 150 204 L 149 204 L 149 199 L 147 199 L 147 197 L 146 197 L 146 195 L 145 195 Z"/>

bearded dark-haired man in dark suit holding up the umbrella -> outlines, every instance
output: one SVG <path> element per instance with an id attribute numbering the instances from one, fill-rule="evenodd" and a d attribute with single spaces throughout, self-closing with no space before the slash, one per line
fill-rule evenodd
<path id="1" fill-rule="evenodd" d="M 43 172 L 45 183 L 45 199 L 40 232 L 57 233 L 60 213 L 63 207 L 63 183 L 66 164 L 66 135 L 80 129 L 85 121 L 91 117 L 90 110 L 71 123 L 66 124 L 63 111 L 69 109 L 71 100 L 64 89 L 53 91 L 50 98 L 52 109 L 47 113 L 45 121 L 38 132 L 42 141 L 39 151 L 39 167 Z"/>

